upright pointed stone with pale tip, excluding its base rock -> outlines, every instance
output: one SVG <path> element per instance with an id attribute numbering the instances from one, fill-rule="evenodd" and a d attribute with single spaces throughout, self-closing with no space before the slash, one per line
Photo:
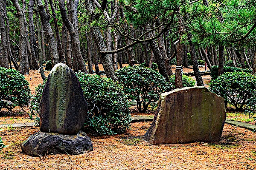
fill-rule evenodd
<path id="1" fill-rule="evenodd" d="M 40 130 L 64 135 L 76 134 L 87 116 L 87 102 L 75 73 L 56 64 L 44 86 L 40 102 Z"/>

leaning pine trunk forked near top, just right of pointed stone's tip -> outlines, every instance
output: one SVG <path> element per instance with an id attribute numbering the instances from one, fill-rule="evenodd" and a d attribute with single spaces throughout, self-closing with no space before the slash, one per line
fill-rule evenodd
<path id="1" fill-rule="evenodd" d="M 61 11 L 62 20 L 65 23 L 65 26 L 67 27 L 67 30 L 70 33 L 73 55 L 77 59 L 79 69 L 82 72 L 87 73 L 84 59 L 81 54 L 79 31 L 78 31 L 77 8 L 78 8 L 79 0 L 70 1 L 70 5 L 72 7 L 71 11 L 70 11 L 70 12 L 72 12 L 72 14 L 71 14 L 72 23 L 67 17 L 64 0 L 58 0 L 58 2 L 59 2 L 58 5 L 59 5 L 60 11 Z"/>

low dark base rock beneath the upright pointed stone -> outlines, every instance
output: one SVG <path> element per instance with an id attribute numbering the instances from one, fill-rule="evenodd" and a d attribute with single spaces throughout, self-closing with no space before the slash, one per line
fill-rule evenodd
<path id="1" fill-rule="evenodd" d="M 44 156 L 50 153 L 78 155 L 93 150 L 90 138 L 81 130 L 76 135 L 37 132 L 21 145 L 23 153 Z"/>

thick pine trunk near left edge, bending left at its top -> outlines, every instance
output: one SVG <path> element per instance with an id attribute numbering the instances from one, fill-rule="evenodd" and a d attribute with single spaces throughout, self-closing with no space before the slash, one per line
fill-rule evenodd
<path id="1" fill-rule="evenodd" d="M 17 0 L 12 0 L 12 3 L 14 4 L 16 10 L 17 10 L 17 16 L 19 18 L 20 23 L 20 73 L 21 74 L 29 74 L 29 60 L 28 60 L 28 54 L 27 54 L 27 34 L 25 23 L 26 23 L 26 17 L 25 17 L 25 9 L 20 7 L 20 4 Z"/>

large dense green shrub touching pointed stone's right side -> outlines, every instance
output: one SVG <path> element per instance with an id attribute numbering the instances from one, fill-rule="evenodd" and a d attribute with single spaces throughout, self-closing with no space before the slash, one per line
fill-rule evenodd
<path id="1" fill-rule="evenodd" d="M 122 86 L 98 75 L 77 74 L 88 103 L 85 125 L 99 134 L 124 132 L 131 122 L 129 101 Z"/>

